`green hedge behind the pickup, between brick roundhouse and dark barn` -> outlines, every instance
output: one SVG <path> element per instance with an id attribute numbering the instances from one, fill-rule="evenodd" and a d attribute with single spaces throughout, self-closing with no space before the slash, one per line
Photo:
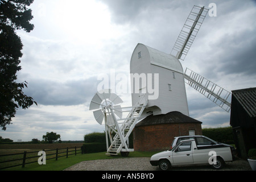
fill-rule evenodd
<path id="1" fill-rule="evenodd" d="M 217 142 L 234 144 L 232 127 L 220 127 L 216 129 L 202 129 L 202 134 L 205 137 L 213 139 Z"/>

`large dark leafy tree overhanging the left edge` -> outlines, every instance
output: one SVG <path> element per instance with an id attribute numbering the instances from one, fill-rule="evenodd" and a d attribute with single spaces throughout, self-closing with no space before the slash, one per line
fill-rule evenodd
<path id="1" fill-rule="evenodd" d="M 16 109 L 27 109 L 37 103 L 32 97 L 26 96 L 22 89 L 27 82 L 17 83 L 16 72 L 20 71 L 22 42 L 16 30 L 30 32 L 34 25 L 31 9 L 27 9 L 34 0 L 0 0 L 0 126 L 6 130 L 11 118 L 15 117 Z"/>

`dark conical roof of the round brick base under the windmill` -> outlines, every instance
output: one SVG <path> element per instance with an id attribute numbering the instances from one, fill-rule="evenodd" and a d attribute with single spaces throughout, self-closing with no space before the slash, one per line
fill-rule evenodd
<path id="1" fill-rule="evenodd" d="M 146 125 L 161 125 L 161 124 L 171 124 L 171 123 L 202 123 L 197 121 L 187 115 L 184 115 L 178 111 L 172 111 L 167 114 L 159 115 L 149 115 L 148 117 L 142 119 L 141 122 L 137 123 L 135 127 L 146 126 Z"/>

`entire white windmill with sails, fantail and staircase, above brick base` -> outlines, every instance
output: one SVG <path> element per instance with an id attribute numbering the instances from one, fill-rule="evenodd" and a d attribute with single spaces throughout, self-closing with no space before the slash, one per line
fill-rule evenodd
<path id="1" fill-rule="evenodd" d="M 121 107 L 121 98 L 111 93 L 110 89 L 95 94 L 89 110 L 93 110 L 100 125 L 105 121 L 106 154 L 117 155 L 121 152 L 122 155 L 128 155 L 133 151 L 133 148 L 129 148 L 129 135 L 136 123 L 147 115 L 179 111 L 189 116 L 185 82 L 224 110 L 230 110 L 231 94 L 228 91 L 190 69 L 184 72 L 180 63 L 187 55 L 207 13 L 208 9 L 193 6 L 171 54 L 137 44 L 130 61 L 130 73 L 136 75 L 131 77 L 133 106 Z M 150 88 L 154 88 L 154 93 Z M 123 117 L 125 111 L 128 114 Z"/>

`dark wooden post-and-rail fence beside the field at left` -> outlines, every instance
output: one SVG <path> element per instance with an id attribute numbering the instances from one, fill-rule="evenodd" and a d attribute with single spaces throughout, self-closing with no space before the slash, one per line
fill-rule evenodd
<path id="1" fill-rule="evenodd" d="M 75 150 L 70 150 L 70 149 L 73 149 L 73 148 L 75 148 Z M 80 149 L 77 149 L 77 148 L 80 148 Z M 58 158 L 61 158 L 61 157 L 68 158 L 69 155 L 76 155 L 76 154 L 80 154 L 80 153 L 82 154 L 82 148 L 81 147 L 67 147 L 67 148 L 61 148 L 61 149 L 56 148 L 56 149 L 53 149 L 53 150 L 43 150 L 43 151 L 46 152 L 46 160 L 49 160 L 49 159 L 58 160 Z M 9 157 L 9 156 L 13 156 L 13 159 L 11 159 L 11 160 L 0 160 L 0 169 L 6 169 L 6 168 L 11 168 L 11 167 L 16 167 L 16 166 L 22 166 L 22 168 L 24 168 L 25 164 L 36 163 L 36 162 L 38 162 L 38 158 L 40 156 L 39 155 L 32 156 L 32 154 L 33 153 L 38 154 L 38 152 L 39 151 L 33 151 L 33 152 L 24 151 L 24 152 L 18 153 L 18 154 L 0 155 L 0 159 L 2 159 L 3 157 L 6 158 L 6 157 Z M 22 156 L 22 155 L 23 155 L 23 157 L 21 158 L 20 156 Z M 55 156 L 51 157 L 51 158 L 47 158 L 47 156 L 53 156 L 53 155 L 55 155 Z M 37 158 L 37 160 L 31 160 L 33 158 Z M 3 163 L 16 162 L 18 160 L 22 160 L 22 163 L 15 164 L 13 166 L 5 166 L 5 167 L 2 166 Z"/>

